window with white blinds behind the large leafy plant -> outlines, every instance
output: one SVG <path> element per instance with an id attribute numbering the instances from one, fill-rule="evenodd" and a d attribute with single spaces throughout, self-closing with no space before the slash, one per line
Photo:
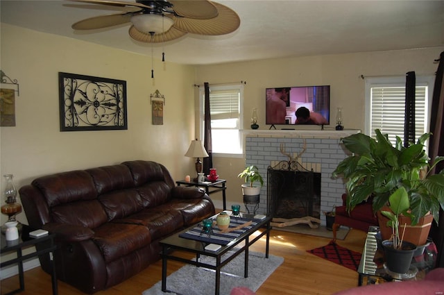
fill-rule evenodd
<path id="1" fill-rule="evenodd" d="M 391 142 L 399 136 L 404 142 L 405 76 L 366 78 L 366 130 L 387 133 Z M 432 101 L 434 76 L 416 76 L 415 135 L 428 132 L 429 101 Z"/>

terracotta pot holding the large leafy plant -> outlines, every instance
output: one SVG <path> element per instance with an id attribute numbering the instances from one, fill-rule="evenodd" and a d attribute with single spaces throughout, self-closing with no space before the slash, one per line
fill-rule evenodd
<path id="1" fill-rule="evenodd" d="M 382 208 L 383 211 L 390 211 L 388 207 Z M 391 238 L 391 227 L 387 226 L 388 218 L 377 212 L 377 220 L 379 223 L 379 230 L 381 230 L 382 240 Z M 433 216 L 428 214 L 425 217 L 420 218 L 418 224 L 415 226 L 411 225 L 411 220 L 409 217 L 400 216 L 400 235 L 404 230 L 404 224 L 407 224 L 404 241 L 411 242 L 416 246 L 422 246 L 427 243 L 427 237 L 429 236 L 430 228 L 432 227 Z"/>

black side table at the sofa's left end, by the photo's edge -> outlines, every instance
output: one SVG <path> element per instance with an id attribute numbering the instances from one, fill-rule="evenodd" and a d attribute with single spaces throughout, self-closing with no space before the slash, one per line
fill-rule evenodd
<path id="1" fill-rule="evenodd" d="M 15 289 L 12 292 L 9 292 L 5 295 L 9 294 L 16 294 L 18 292 L 22 292 L 25 289 L 25 282 L 24 282 L 24 270 L 23 270 L 23 262 L 24 260 L 28 260 L 29 258 L 35 258 L 38 255 L 49 253 L 49 257 L 51 259 L 51 281 L 52 281 L 52 287 L 53 287 L 53 295 L 58 294 L 58 286 L 57 286 L 57 277 L 56 277 L 56 262 L 54 260 L 54 251 L 56 251 L 57 246 L 54 244 L 54 237 L 56 237 L 56 234 L 49 234 L 44 235 L 42 237 L 29 237 L 29 232 L 31 231 L 31 228 L 29 226 L 24 225 L 22 228 L 22 234 L 20 235 L 19 239 L 10 242 L 6 241 L 5 235 L 1 235 L 1 248 L 0 248 L 0 254 L 6 254 L 6 253 L 17 253 L 17 258 L 12 258 L 10 260 L 2 261 L 0 263 L 0 269 L 3 267 L 7 267 L 11 264 L 17 264 L 19 268 L 19 283 L 20 287 L 19 289 Z M 35 250 L 33 253 L 29 253 L 26 255 L 22 254 L 22 250 L 24 248 L 29 248 L 31 246 L 43 246 L 40 248 L 40 250 Z"/>

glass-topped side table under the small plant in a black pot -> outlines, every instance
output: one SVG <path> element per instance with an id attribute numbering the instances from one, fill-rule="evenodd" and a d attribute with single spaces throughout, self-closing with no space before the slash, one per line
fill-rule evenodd
<path id="1" fill-rule="evenodd" d="M 418 253 L 411 261 L 408 273 L 393 273 L 384 267 L 384 253 L 377 248 L 375 235 L 379 232 L 379 227 L 370 226 L 366 237 L 366 243 L 361 255 L 361 262 L 357 272 L 359 273 L 358 285 L 368 285 L 378 280 L 420 280 L 425 273 L 434 268 L 436 253 L 424 246 L 424 251 Z M 432 243 L 432 242 L 431 242 Z M 366 279 L 366 280 L 364 280 Z"/>

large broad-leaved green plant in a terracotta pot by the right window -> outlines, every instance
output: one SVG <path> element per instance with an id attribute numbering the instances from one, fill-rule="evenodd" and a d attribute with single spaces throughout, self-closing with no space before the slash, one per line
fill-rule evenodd
<path id="1" fill-rule="evenodd" d="M 417 246 L 425 244 L 433 219 L 437 222 L 439 208 L 444 208 L 444 170 L 439 174 L 429 174 L 429 171 L 444 160 L 444 157 L 436 157 L 430 166 L 424 150 L 429 133 L 421 135 L 416 144 L 412 143 L 408 147 L 402 145 L 400 137 L 396 137 L 393 145 L 388 140 L 388 135 L 382 135 L 379 129 L 375 133 L 376 139 L 357 133 L 341 140 L 351 155 L 339 163 L 333 176 L 343 176 L 346 180 L 348 211 L 373 196 L 373 212 L 379 212 L 383 206 L 388 205 L 390 196 L 404 187 L 411 213 L 410 217 L 404 218 L 413 226 L 420 221 L 428 224 L 416 228 L 426 232 L 414 234 L 421 237 L 418 242 L 406 239 Z M 382 214 L 378 214 L 379 216 Z M 379 221 L 382 239 L 387 239 L 386 232 L 383 232 L 384 224 L 386 222 Z M 403 225 L 404 221 L 401 222 L 401 226 Z M 388 227 L 387 229 L 390 235 L 391 230 Z"/>

